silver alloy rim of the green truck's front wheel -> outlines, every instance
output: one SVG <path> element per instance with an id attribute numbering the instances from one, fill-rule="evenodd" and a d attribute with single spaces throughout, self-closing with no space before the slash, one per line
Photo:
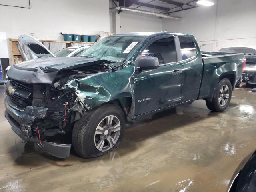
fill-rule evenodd
<path id="1" fill-rule="evenodd" d="M 96 148 L 102 152 L 111 149 L 116 144 L 120 131 L 120 120 L 116 116 L 104 117 L 95 130 L 94 144 Z"/>

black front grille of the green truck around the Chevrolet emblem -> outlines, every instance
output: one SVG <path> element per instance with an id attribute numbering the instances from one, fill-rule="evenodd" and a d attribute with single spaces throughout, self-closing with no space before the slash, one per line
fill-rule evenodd
<path id="1" fill-rule="evenodd" d="M 19 106 L 32 106 L 32 101 L 33 101 L 33 85 L 32 84 L 27 84 L 23 83 L 20 81 L 16 80 L 10 80 L 11 85 L 16 89 L 16 90 L 26 90 L 31 92 L 30 96 L 28 98 L 23 98 L 21 96 L 18 96 L 16 94 L 9 94 L 10 99 L 12 102 L 15 104 L 18 104 Z"/>

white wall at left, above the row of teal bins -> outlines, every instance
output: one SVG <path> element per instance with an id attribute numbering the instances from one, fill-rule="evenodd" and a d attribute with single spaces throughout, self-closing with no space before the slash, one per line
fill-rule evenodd
<path id="1" fill-rule="evenodd" d="M 99 30 L 110 31 L 108 0 L 30 1 L 31 9 L 0 6 L 0 32 L 6 32 L 7 38 L 34 33 L 34 37 L 42 40 L 63 40 L 60 32 L 98 34 Z M 12 0 L 12 5 L 20 6 L 20 2 Z M 28 0 L 22 0 L 23 6 L 27 6 L 25 2 Z"/>

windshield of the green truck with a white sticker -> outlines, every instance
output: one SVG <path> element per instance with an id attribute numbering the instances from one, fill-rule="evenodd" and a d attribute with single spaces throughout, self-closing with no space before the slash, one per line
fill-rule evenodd
<path id="1" fill-rule="evenodd" d="M 143 39 L 143 36 L 108 36 L 90 46 L 80 56 L 122 62 Z"/>

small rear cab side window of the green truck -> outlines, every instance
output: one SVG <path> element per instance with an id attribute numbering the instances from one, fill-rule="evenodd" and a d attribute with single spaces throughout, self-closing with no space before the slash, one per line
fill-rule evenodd
<path id="1" fill-rule="evenodd" d="M 179 36 L 182 60 L 196 56 L 196 46 L 189 36 Z"/>

